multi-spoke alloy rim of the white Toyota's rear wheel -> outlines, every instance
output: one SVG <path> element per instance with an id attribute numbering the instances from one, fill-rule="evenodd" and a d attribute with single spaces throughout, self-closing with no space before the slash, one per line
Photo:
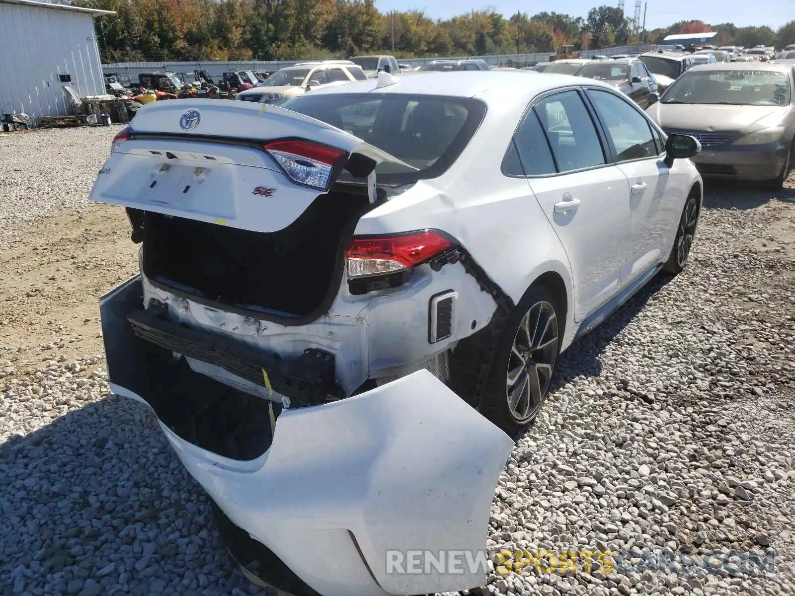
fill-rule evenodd
<path id="1" fill-rule="evenodd" d="M 522 317 L 510 348 L 506 373 L 508 411 L 518 423 L 541 409 L 557 358 L 557 316 L 540 301 Z"/>

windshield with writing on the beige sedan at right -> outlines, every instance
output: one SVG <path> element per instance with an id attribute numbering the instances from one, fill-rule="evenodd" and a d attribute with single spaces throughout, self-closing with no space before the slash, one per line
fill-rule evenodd
<path id="1" fill-rule="evenodd" d="M 736 106 L 787 106 L 791 90 L 785 72 L 726 70 L 685 72 L 661 103 L 727 103 Z"/>

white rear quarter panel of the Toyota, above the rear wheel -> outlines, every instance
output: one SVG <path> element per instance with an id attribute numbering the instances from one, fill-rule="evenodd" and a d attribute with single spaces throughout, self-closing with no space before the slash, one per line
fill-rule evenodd
<path id="1" fill-rule="evenodd" d="M 370 211 L 356 234 L 388 234 L 436 228 L 452 234 L 514 302 L 542 273 L 553 271 L 567 288 L 568 259 L 527 180 L 500 171 L 510 138 L 525 106 L 489 105 L 478 132 L 444 175 L 416 184 Z"/>

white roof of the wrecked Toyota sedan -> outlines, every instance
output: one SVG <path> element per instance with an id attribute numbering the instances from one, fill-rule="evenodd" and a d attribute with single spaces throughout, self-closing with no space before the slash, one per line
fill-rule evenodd
<path id="1" fill-rule="evenodd" d="M 316 95 L 336 95 L 342 93 L 386 93 L 406 95 L 447 95 L 452 97 L 478 97 L 487 103 L 499 103 L 510 98 L 534 96 L 544 91 L 568 85 L 583 85 L 583 79 L 572 75 L 545 74 L 533 76 L 526 72 L 514 71 L 456 71 L 422 72 L 413 76 L 394 75 L 397 83 L 377 87 L 377 79 L 355 81 L 339 87 L 320 87 L 312 91 Z M 612 89 L 607 83 L 588 81 L 588 85 L 598 85 Z"/>

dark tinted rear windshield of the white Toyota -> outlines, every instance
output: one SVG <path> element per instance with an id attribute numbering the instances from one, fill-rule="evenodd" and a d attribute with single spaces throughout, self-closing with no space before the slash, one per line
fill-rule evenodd
<path id="1" fill-rule="evenodd" d="M 301 95 L 282 107 L 322 120 L 417 168 L 379 164 L 379 184 L 436 178 L 458 159 L 486 114 L 479 99 L 443 95 Z"/>

